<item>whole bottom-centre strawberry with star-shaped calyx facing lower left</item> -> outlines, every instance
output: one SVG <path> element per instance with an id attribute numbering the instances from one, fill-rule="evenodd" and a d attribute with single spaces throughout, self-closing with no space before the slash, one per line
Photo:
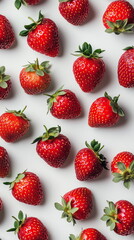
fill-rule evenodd
<path id="1" fill-rule="evenodd" d="M 85 220 L 89 217 L 93 206 L 92 192 L 85 187 L 75 188 L 62 197 L 62 205 L 55 203 L 59 211 L 63 211 L 62 218 L 68 222 L 76 223 L 75 220 Z"/>

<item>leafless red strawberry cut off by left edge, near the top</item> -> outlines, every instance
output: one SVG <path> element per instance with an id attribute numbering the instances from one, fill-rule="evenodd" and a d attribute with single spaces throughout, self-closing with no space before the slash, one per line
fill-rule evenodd
<path id="1" fill-rule="evenodd" d="M 14 31 L 8 19 L 0 15 L 0 49 L 10 48 L 15 41 Z"/>

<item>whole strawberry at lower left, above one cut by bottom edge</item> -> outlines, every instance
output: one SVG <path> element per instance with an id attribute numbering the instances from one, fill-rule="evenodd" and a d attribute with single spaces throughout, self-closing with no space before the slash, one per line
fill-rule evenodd
<path id="1" fill-rule="evenodd" d="M 19 173 L 13 182 L 4 184 L 10 185 L 12 195 L 20 202 L 39 205 L 43 199 L 41 182 L 35 173 L 26 171 Z"/>

